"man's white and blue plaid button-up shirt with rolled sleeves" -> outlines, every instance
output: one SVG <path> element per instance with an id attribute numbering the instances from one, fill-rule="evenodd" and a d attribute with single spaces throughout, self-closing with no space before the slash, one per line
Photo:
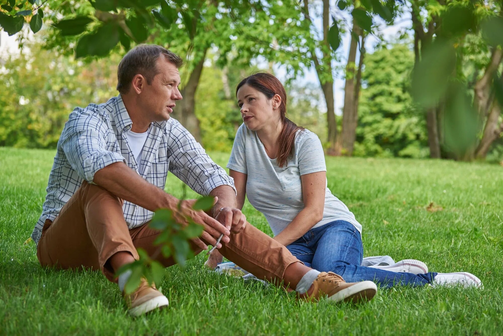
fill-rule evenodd
<path id="1" fill-rule="evenodd" d="M 131 125 L 120 95 L 104 104 L 73 110 L 61 132 L 42 215 L 32 233 L 36 243 L 45 220 L 56 218 L 82 181 L 93 183 L 95 173 L 114 162 L 126 163 L 161 189 L 164 189 L 168 171 L 201 195 L 208 195 L 221 185 L 234 188 L 232 178 L 173 118 L 150 124 L 140 156 L 141 164 L 138 164 L 126 135 Z M 128 201 L 124 201 L 123 211 L 130 229 L 145 224 L 153 216 L 151 211 Z"/>

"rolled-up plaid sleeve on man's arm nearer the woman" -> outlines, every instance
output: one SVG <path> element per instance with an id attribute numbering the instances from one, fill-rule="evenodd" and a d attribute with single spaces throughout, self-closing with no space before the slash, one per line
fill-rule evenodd
<path id="1" fill-rule="evenodd" d="M 170 172 L 196 193 L 207 196 L 218 186 L 234 189 L 234 180 L 213 162 L 204 148 L 178 121 L 172 120 L 168 130 Z"/>

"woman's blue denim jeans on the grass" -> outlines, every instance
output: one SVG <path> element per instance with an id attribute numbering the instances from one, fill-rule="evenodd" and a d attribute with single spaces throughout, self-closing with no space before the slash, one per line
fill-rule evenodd
<path id="1" fill-rule="evenodd" d="M 374 281 L 382 287 L 431 284 L 436 273 L 412 274 L 364 267 L 360 232 L 345 220 L 336 220 L 310 229 L 287 246 L 306 266 L 320 272 L 339 274 L 346 282 Z"/>

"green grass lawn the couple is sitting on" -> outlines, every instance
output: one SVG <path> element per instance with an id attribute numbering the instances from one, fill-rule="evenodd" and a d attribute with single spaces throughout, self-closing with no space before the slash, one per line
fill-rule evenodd
<path id="1" fill-rule="evenodd" d="M 431 271 L 466 271 L 483 290 L 380 289 L 359 306 L 298 302 L 273 286 L 204 270 L 166 269 L 170 306 L 126 313 L 99 272 L 43 270 L 25 243 L 45 197 L 54 150 L 0 148 L 1 334 L 501 334 L 503 168 L 440 160 L 327 158 L 328 186 L 363 226 L 365 256 L 419 259 Z M 227 154 L 210 153 L 224 165 Z M 171 174 L 166 191 L 182 195 Z M 190 194 L 189 196 L 194 196 Z M 429 211 L 427 208 L 433 202 Z M 249 204 L 248 221 L 271 230 Z"/>

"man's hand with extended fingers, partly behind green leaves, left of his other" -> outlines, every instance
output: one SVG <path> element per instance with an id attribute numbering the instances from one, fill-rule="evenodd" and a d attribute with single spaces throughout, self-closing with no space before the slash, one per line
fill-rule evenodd
<path id="1" fill-rule="evenodd" d="M 222 237 L 221 241 L 228 242 L 230 234 L 229 230 L 218 220 L 207 215 L 204 211 L 192 209 L 192 206 L 194 205 L 194 203 L 196 203 L 196 201 L 197 200 L 182 201 L 180 210 L 177 209 L 173 212 L 176 220 L 179 223 L 185 223 L 186 220 L 184 216 L 189 216 L 196 224 L 200 224 L 204 227 L 201 238 L 194 238 L 192 239 L 192 241 L 202 249 L 208 249 L 207 245 L 210 244 L 215 246 L 218 237 L 223 233 L 224 236 Z M 204 241 L 201 239 L 203 239 Z M 222 244 L 218 243 L 217 248 L 220 247 L 222 247 Z"/>

